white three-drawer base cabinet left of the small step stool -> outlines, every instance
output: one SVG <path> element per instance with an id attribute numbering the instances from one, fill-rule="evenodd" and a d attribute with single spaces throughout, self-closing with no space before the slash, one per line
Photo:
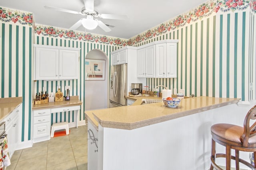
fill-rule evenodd
<path id="1" fill-rule="evenodd" d="M 50 139 L 50 113 L 51 109 L 40 109 L 33 111 L 33 142 Z"/>

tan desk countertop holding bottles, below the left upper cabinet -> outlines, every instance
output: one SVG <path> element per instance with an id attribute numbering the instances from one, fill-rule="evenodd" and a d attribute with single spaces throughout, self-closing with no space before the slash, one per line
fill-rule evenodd
<path id="1" fill-rule="evenodd" d="M 63 99 L 63 101 L 60 102 L 48 102 L 48 104 L 33 104 L 32 110 L 37 109 L 50 109 L 50 108 L 58 108 L 58 107 L 65 107 L 65 106 L 78 106 L 82 105 L 81 100 L 79 100 L 78 96 L 70 96 L 70 100 L 66 101 Z"/>

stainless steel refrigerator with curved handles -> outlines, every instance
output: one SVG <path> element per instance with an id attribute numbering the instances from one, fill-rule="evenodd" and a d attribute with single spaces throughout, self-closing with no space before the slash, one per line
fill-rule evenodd
<path id="1" fill-rule="evenodd" d="M 109 107 L 127 106 L 127 64 L 110 67 Z"/>

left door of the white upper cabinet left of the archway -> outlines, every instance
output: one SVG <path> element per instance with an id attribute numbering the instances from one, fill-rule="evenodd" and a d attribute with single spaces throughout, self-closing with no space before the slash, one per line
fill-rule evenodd
<path id="1" fill-rule="evenodd" d="M 58 79 L 59 50 L 51 48 L 35 49 L 35 80 Z"/>

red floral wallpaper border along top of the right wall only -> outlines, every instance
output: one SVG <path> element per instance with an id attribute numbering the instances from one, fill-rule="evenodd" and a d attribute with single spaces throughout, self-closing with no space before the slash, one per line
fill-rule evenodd
<path id="1" fill-rule="evenodd" d="M 255 2 L 255 0 L 254 0 Z M 253 3 L 251 3 L 253 4 Z M 210 16 L 213 12 L 234 12 L 235 10 L 245 10 L 250 5 L 250 0 L 216 0 L 201 4 L 194 10 L 186 14 L 177 16 L 176 18 L 162 23 L 157 27 L 149 29 L 128 40 L 127 45 L 135 45 L 147 39 L 152 39 L 158 35 L 162 35 L 170 30 L 178 29 L 191 21 L 201 20 Z M 256 10 L 256 9 L 255 9 Z"/>

